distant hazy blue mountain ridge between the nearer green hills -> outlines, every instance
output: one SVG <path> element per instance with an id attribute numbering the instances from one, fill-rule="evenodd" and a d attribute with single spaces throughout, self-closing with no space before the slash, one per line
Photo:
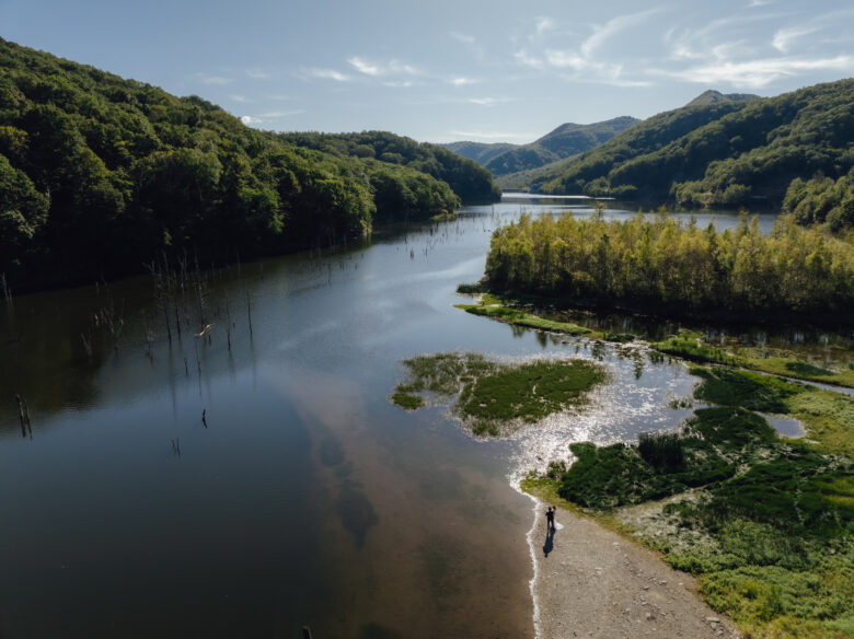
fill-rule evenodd
<path id="1" fill-rule="evenodd" d="M 529 144 L 451 142 L 442 147 L 476 160 L 498 177 L 577 155 L 610 140 L 638 121 L 641 120 L 622 116 L 592 125 L 567 123 Z"/>

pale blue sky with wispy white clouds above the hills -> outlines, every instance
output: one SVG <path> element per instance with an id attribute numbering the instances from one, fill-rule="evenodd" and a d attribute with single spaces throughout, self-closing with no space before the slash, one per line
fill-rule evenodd
<path id="1" fill-rule="evenodd" d="M 0 37 L 259 129 L 429 142 L 854 75 L 850 0 L 0 0 Z"/>

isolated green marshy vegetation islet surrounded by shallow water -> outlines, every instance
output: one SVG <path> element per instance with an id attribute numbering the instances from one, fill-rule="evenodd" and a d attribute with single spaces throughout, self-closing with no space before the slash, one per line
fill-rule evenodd
<path id="1" fill-rule="evenodd" d="M 395 387 L 393 404 L 417 409 L 426 395 L 434 395 L 452 403 L 453 413 L 478 435 L 497 437 L 513 425 L 584 405 L 589 391 L 608 380 L 602 365 L 578 359 L 505 364 L 476 353 L 451 352 L 403 363 L 408 380 Z"/>

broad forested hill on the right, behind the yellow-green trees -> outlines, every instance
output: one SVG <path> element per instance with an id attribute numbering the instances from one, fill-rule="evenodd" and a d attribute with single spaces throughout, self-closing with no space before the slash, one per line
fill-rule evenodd
<path id="1" fill-rule="evenodd" d="M 543 193 L 778 205 L 794 179 L 854 165 L 854 80 L 654 116 L 539 176 Z"/>

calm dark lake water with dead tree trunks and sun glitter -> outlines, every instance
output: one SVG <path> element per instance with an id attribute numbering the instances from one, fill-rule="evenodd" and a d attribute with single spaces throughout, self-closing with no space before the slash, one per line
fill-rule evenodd
<path id="1" fill-rule="evenodd" d="M 454 310 L 520 206 L 209 272 L 209 340 L 173 325 L 170 344 L 148 278 L 0 307 L 0 636 L 532 637 L 513 484 L 569 441 L 673 428 L 694 380 Z M 614 383 L 582 415 L 474 441 L 386 399 L 401 359 L 454 349 L 596 358 Z"/>

